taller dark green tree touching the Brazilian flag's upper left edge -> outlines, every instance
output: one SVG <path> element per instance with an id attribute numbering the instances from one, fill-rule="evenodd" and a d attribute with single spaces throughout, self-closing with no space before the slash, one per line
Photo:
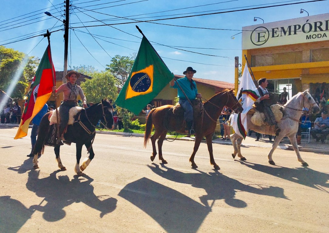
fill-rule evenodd
<path id="1" fill-rule="evenodd" d="M 123 87 L 129 77 L 133 64 L 133 57 L 115 55 L 115 57 L 111 59 L 111 64 L 106 65 L 108 66 L 106 70 L 111 71 L 117 80 L 118 86 Z"/>

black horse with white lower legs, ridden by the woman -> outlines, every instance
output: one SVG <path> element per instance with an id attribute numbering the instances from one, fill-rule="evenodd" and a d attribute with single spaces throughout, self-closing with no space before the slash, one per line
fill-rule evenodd
<path id="1" fill-rule="evenodd" d="M 87 109 L 83 109 L 79 114 L 77 114 L 77 116 L 75 116 L 75 121 L 73 125 L 67 126 L 67 131 L 63 136 L 65 142 L 74 142 L 76 144 L 77 162 L 74 171 L 77 173 L 77 175 L 84 175 L 82 171 L 87 168 L 90 161 L 94 158 L 95 154 L 92 149 L 92 142 L 95 138 L 95 128 L 98 121 L 101 119 L 105 122 L 106 127 L 110 129 L 114 128 L 113 112 L 114 110 L 111 103 L 108 100 L 102 99 L 101 103 L 94 104 Z M 47 143 L 46 139 L 49 138 L 49 134 L 52 133 L 51 130 L 49 130 L 50 114 L 51 112 L 46 113 L 42 117 L 39 125 L 38 139 L 33 150 L 33 168 L 35 169 L 39 168 L 38 154 L 41 154 L 41 152 L 43 153 L 44 146 Z M 85 145 L 87 150 L 89 151 L 89 156 L 83 161 L 82 165 L 79 166 L 83 145 Z M 56 161 L 58 163 L 58 167 L 61 170 L 66 170 L 60 158 L 60 145 L 55 145 L 54 151 L 56 154 Z"/>

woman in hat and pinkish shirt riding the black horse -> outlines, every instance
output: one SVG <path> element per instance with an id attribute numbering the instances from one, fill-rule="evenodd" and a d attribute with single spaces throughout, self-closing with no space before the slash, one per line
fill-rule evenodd
<path id="1" fill-rule="evenodd" d="M 75 82 L 80 77 L 80 73 L 70 70 L 66 75 L 65 78 L 68 80 L 67 83 L 62 84 L 58 89 L 53 87 L 52 90 L 56 91 L 57 94 L 63 92 L 64 99 L 60 105 L 60 125 L 59 125 L 59 132 L 60 138 L 57 139 L 57 145 L 63 145 L 61 141 L 63 131 L 68 123 L 68 112 L 70 108 L 78 106 L 77 104 L 77 97 L 80 95 L 81 100 L 83 102 L 83 107 L 87 108 L 87 99 L 81 89 Z"/>

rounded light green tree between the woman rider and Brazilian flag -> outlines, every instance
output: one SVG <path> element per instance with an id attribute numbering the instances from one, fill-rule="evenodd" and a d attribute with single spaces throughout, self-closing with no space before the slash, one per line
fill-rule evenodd
<path id="1" fill-rule="evenodd" d="M 88 74 L 92 79 L 81 83 L 88 102 L 99 103 L 101 99 L 116 99 L 118 89 L 115 86 L 116 80 L 110 71 L 94 71 Z"/>

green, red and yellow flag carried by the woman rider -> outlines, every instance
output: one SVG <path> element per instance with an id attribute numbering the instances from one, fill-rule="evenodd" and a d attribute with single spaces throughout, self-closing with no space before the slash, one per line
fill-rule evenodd
<path id="1" fill-rule="evenodd" d="M 52 87 L 54 86 L 51 69 L 54 70 L 55 75 L 55 68 L 51 59 L 50 45 L 48 45 L 41 58 L 36 75 L 33 78 L 27 94 L 27 100 L 24 104 L 21 122 L 14 139 L 19 139 L 27 135 L 30 121 L 38 114 L 44 104 L 48 101 L 52 93 Z"/>

